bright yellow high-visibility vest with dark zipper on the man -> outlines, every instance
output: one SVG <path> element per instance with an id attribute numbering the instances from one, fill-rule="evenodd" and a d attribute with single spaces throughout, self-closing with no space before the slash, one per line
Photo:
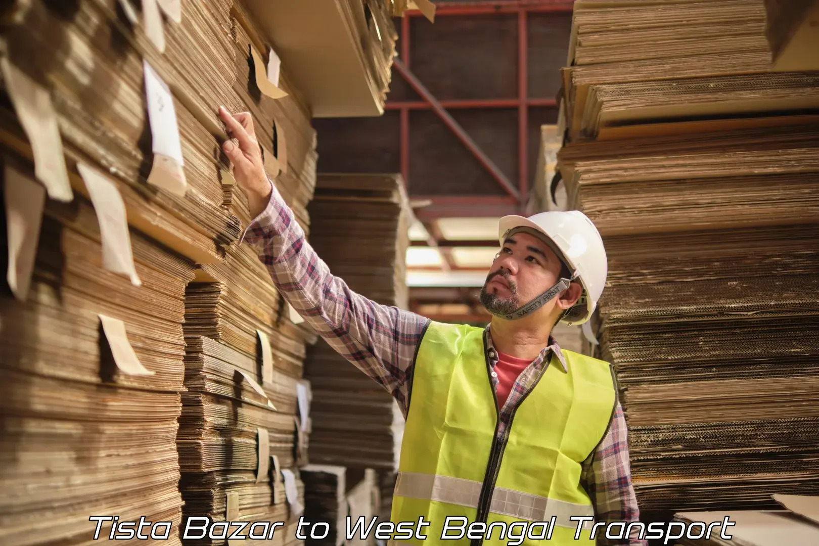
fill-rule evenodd
<path id="1" fill-rule="evenodd" d="M 595 543 L 581 463 L 609 429 L 617 390 L 609 363 L 563 354 L 568 373 L 545 367 L 500 437 L 485 331 L 430 323 L 414 363 L 391 512 L 396 526 L 415 522 L 414 532 L 398 526 L 389 544 Z"/>

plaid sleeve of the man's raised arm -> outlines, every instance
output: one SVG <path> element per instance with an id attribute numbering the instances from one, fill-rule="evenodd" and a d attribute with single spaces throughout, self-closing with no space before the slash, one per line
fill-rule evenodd
<path id="1" fill-rule="evenodd" d="M 319 336 L 387 389 L 405 411 L 407 378 L 428 318 L 380 305 L 333 276 L 271 183 L 267 207 L 242 233 L 275 286 Z"/>

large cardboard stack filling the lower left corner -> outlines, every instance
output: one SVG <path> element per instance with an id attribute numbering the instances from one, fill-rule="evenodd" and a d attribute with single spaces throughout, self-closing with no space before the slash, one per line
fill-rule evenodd
<path id="1" fill-rule="evenodd" d="M 7 157 L 4 170 L 5 216 L 19 221 L 21 211 L 43 204 L 44 192 L 25 161 Z M 17 198 L 22 188 L 25 201 Z M 124 242 L 141 283 L 133 286 L 103 266 L 90 203 L 77 196 L 45 209 L 39 237 L 29 241 L 30 287 L 18 278 L 17 298 L 0 296 L 0 542 L 88 544 L 97 526 L 89 517 L 118 515 L 172 521 L 162 543 L 180 544 L 176 433 L 193 264 L 132 230 Z M 14 231 L 8 240 L 20 241 Z M 110 532 L 103 522 L 101 536 Z"/>

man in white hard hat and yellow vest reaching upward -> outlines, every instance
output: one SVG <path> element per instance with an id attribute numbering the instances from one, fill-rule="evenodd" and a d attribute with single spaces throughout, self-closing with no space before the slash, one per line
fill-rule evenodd
<path id="1" fill-rule="evenodd" d="M 644 545 L 607 539 L 604 527 L 590 538 L 592 517 L 599 526 L 639 520 L 626 423 L 609 364 L 562 351 L 551 337 L 559 320 L 585 322 L 603 291 L 606 256 L 590 220 L 577 211 L 501 219 L 501 250 L 481 293 L 490 326 L 434 323 L 333 276 L 265 175 L 251 116 L 219 115 L 254 218 L 242 239 L 294 309 L 404 413 L 392 521 L 423 517 L 426 526 L 393 542 L 451 544 L 446 533 L 464 535 L 457 544 L 508 544 L 520 536 L 515 521 L 545 521 L 523 544 Z M 446 530 L 447 517 L 464 519 Z M 609 532 L 626 537 L 625 527 Z"/>

